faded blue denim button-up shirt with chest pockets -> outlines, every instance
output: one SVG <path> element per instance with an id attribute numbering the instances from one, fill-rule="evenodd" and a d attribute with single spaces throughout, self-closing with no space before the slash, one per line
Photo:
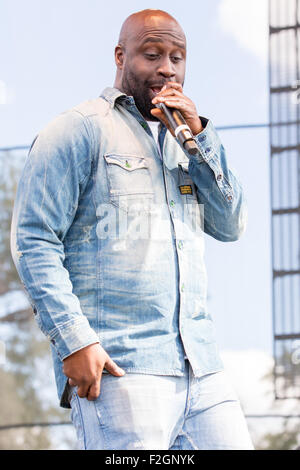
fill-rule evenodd
<path id="1" fill-rule="evenodd" d="M 182 376 L 185 355 L 196 377 L 223 368 L 206 305 L 204 232 L 237 240 L 246 207 L 211 121 L 202 122 L 199 155 L 185 154 L 162 125 L 159 152 L 133 98 L 106 88 L 33 141 L 11 249 L 51 342 L 62 407 L 62 361 L 96 342 L 127 373 Z"/>

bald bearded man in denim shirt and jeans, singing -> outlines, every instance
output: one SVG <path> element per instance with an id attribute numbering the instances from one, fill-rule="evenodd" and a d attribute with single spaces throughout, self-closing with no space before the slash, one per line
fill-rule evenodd
<path id="1" fill-rule="evenodd" d="M 127 18 L 115 61 L 114 88 L 33 142 L 14 209 L 12 253 L 51 341 L 60 404 L 83 449 L 251 449 L 203 260 L 203 231 L 244 231 L 241 186 L 183 93 L 173 17 Z M 199 155 L 181 150 L 158 103 L 181 111 Z"/>

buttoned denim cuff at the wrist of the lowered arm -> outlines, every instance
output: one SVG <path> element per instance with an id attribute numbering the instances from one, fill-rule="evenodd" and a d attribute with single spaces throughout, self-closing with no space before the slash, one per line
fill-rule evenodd
<path id="1" fill-rule="evenodd" d="M 76 321 L 72 320 L 53 329 L 48 337 L 61 360 L 90 344 L 100 342 L 88 319 L 83 315 Z"/>

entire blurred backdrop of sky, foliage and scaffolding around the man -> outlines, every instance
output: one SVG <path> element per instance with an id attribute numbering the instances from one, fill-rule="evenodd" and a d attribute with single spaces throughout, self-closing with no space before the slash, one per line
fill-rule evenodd
<path id="1" fill-rule="evenodd" d="M 131 13 L 173 15 L 185 94 L 212 120 L 248 201 L 234 243 L 206 237 L 219 349 L 257 449 L 300 445 L 298 0 L 0 0 L 0 449 L 74 449 L 48 341 L 13 266 L 12 205 L 28 148 L 57 114 L 113 86 Z"/>

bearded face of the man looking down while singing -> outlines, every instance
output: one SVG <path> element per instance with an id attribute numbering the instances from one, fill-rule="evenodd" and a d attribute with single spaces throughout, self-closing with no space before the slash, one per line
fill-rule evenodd
<path id="1" fill-rule="evenodd" d="M 169 81 L 183 85 L 185 37 L 178 24 L 166 18 L 151 17 L 137 29 L 127 39 L 125 50 L 120 46 L 116 49 L 120 71 L 119 88 L 134 97 L 145 119 L 154 121 L 156 118 L 150 113 L 154 108 L 151 103 L 154 96 Z"/>

